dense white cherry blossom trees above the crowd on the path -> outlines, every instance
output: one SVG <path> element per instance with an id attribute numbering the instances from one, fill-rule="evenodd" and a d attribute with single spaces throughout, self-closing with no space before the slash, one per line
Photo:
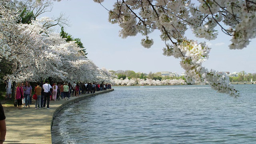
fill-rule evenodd
<path id="1" fill-rule="evenodd" d="M 88 58 L 81 48 L 66 42 L 45 26 L 53 22 L 42 17 L 30 24 L 20 22 L 17 1 L 0 1 L 0 60 L 11 62 L 13 81 L 36 82 L 51 77 L 54 81 L 107 81 L 110 79 Z M 20 3 L 22 4 L 22 3 Z"/>

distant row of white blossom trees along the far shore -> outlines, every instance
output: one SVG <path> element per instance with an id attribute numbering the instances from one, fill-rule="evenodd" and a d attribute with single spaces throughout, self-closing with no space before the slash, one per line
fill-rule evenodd
<path id="1" fill-rule="evenodd" d="M 114 78 L 111 82 L 113 85 L 124 85 L 124 86 L 134 86 L 134 85 L 148 85 L 148 86 L 162 86 L 162 85 L 186 85 L 185 80 L 152 80 L 152 79 L 140 79 L 140 78 L 128 78 L 117 79 Z"/>

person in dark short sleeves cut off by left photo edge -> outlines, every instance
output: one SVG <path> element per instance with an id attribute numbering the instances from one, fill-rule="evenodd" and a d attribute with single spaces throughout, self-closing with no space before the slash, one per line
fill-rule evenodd
<path id="1" fill-rule="evenodd" d="M 4 108 L 0 103 L 0 144 L 3 144 L 6 135 L 6 123 L 5 123 Z"/>

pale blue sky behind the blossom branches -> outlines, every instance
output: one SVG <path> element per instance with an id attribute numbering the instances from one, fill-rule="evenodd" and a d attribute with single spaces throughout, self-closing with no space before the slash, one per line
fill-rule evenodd
<path id="1" fill-rule="evenodd" d="M 103 5 L 112 9 L 115 0 L 105 0 Z M 154 45 L 150 48 L 141 46 L 143 36 L 137 35 L 122 39 L 118 36 L 118 24 L 108 22 L 108 11 L 93 0 L 61 0 L 54 1 L 52 12 L 41 16 L 59 16 L 63 12 L 70 22 L 70 27 L 65 31 L 74 38 L 80 38 L 87 57 L 99 68 L 108 70 L 133 70 L 135 72 L 170 71 L 181 74 L 184 70 L 180 67 L 180 60 L 166 57 L 162 53 L 164 42 L 160 40 L 160 32 L 150 34 Z M 56 29 L 60 32 L 60 28 Z M 195 38 L 191 32 L 186 35 L 188 39 Z M 210 58 L 203 66 L 217 71 L 256 73 L 256 42 L 255 39 L 243 50 L 230 50 L 230 37 L 219 32 L 218 38 L 210 41 L 212 48 Z M 254 49 L 253 49 L 254 48 Z"/>

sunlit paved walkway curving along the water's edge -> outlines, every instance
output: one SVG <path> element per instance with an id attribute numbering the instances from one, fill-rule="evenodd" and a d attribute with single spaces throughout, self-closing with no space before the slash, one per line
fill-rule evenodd
<path id="1" fill-rule="evenodd" d="M 76 102 L 84 98 L 111 92 L 105 90 L 94 94 L 82 94 L 69 100 L 50 101 L 50 109 L 41 108 L 36 110 L 34 101 L 28 109 L 17 107 L 6 108 L 6 138 L 4 144 L 52 144 L 51 126 L 56 113 L 66 104 Z"/>

